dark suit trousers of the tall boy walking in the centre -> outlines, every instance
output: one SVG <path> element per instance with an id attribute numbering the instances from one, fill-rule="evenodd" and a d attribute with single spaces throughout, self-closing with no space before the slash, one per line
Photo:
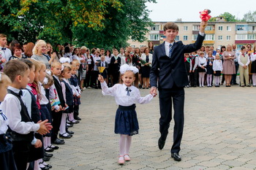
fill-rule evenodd
<path id="1" fill-rule="evenodd" d="M 172 120 L 172 106 L 174 110 L 174 131 L 173 147 L 170 152 L 179 152 L 181 150 L 181 138 L 184 128 L 184 88 L 174 86 L 170 89 L 159 89 L 160 119 L 159 131 L 161 139 L 165 140 Z"/>

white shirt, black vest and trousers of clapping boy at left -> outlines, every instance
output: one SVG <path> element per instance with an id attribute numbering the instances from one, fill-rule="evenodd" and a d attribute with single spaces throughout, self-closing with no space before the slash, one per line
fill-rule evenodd
<path id="1" fill-rule="evenodd" d="M 39 129 L 39 124 L 31 120 L 31 115 L 29 115 L 22 98 L 22 90 L 11 86 L 7 90 L 8 93 L 1 104 L 1 109 L 10 120 L 9 127 L 16 166 L 18 169 L 26 170 L 34 131 Z"/>

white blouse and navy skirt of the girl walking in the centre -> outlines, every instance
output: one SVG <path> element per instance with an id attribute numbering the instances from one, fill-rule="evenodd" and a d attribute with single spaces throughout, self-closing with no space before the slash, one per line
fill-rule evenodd
<path id="1" fill-rule="evenodd" d="M 140 90 L 135 86 L 127 87 L 124 84 L 116 84 L 108 88 L 106 82 L 101 82 L 102 94 L 114 96 L 118 109 L 116 110 L 115 134 L 127 134 L 129 136 L 138 134 L 139 124 L 135 103 L 147 104 L 153 96 L 148 94 L 140 96 Z"/>

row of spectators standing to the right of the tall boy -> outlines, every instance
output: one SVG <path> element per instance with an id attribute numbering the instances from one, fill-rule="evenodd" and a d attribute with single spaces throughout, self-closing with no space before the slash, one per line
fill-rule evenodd
<path id="1" fill-rule="evenodd" d="M 256 42 L 247 44 L 236 50 L 236 45 L 222 46 L 214 50 L 213 46 L 202 46 L 194 53 L 186 53 L 185 66 L 189 79 L 189 87 L 256 87 Z M 240 74 L 239 82 L 236 76 Z M 222 79 L 221 79 L 222 75 Z"/>

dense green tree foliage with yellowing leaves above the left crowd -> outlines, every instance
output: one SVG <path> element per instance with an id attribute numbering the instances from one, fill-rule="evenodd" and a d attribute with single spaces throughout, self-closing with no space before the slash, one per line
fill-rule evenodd
<path id="1" fill-rule="evenodd" d="M 8 40 L 88 47 L 124 47 L 145 40 L 151 20 L 146 2 L 155 0 L 5 0 L 0 30 Z"/>

